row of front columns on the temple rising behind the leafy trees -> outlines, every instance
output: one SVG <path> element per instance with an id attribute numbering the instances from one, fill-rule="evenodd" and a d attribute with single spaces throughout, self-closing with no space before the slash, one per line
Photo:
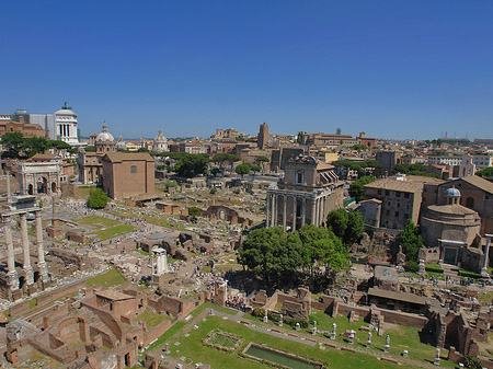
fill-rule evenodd
<path id="1" fill-rule="evenodd" d="M 287 204 L 288 198 L 293 199 L 293 214 L 288 216 L 287 214 Z M 286 231 L 288 226 L 288 218 L 291 218 L 289 222 L 291 226 L 291 232 L 296 230 L 297 226 L 297 210 L 298 210 L 298 199 L 301 199 L 301 224 L 303 227 L 307 223 L 307 203 L 309 201 L 311 205 L 311 217 L 310 224 L 322 226 L 324 222 L 324 208 L 325 208 L 325 197 L 321 196 L 318 198 L 307 198 L 305 196 L 297 196 L 291 194 L 270 194 L 267 193 L 267 218 L 266 218 L 266 227 L 278 227 L 279 219 L 279 198 L 283 198 L 283 228 Z"/>

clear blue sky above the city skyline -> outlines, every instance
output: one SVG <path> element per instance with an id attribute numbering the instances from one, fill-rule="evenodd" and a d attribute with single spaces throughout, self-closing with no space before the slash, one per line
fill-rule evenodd
<path id="1" fill-rule="evenodd" d="M 2 1 L 0 113 L 84 136 L 493 138 L 493 1 Z"/>

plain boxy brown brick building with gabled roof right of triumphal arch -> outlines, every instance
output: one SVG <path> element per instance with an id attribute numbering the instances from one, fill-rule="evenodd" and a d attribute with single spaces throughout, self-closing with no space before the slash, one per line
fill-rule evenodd
<path id="1" fill-rule="evenodd" d="M 147 152 L 108 152 L 103 159 L 103 189 L 114 199 L 154 192 L 154 160 Z"/>

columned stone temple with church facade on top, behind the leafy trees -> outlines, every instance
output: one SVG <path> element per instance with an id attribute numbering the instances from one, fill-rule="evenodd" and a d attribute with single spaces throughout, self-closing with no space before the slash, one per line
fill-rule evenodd
<path id="1" fill-rule="evenodd" d="M 288 160 L 285 176 L 267 189 L 266 227 L 295 231 L 305 224 L 323 226 L 330 211 L 343 207 L 343 182 L 332 165 L 313 157 Z"/>

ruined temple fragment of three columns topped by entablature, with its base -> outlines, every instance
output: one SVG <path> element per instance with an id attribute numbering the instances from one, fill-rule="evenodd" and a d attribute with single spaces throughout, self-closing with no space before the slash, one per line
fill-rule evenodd
<path id="1" fill-rule="evenodd" d="M 0 292 L 10 301 L 30 296 L 38 289 L 49 286 L 50 277 L 45 261 L 43 244 L 42 209 L 37 206 L 35 196 L 12 196 L 8 200 L 8 209 L 2 211 L 4 242 L 7 244 L 7 273 L 0 273 Z M 35 215 L 35 246 L 37 263 L 31 262 L 31 243 L 27 234 L 27 212 Z M 18 257 L 12 238 L 14 221 L 20 223 L 22 252 Z M 1 262 L 5 270 L 4 262 Z M 21 267 L 22 266 L 22 267 Z"/>

